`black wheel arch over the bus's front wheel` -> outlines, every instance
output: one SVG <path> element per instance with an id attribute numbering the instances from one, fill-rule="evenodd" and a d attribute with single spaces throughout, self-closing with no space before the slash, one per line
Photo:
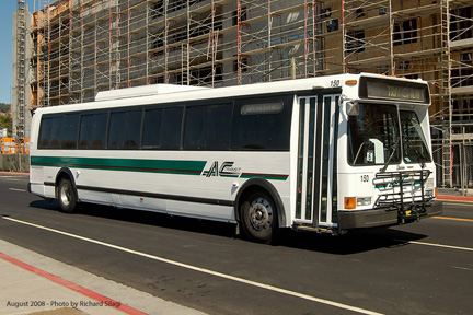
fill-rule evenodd
<path id="1" fill-rule="evenodd" d="M 263 178 L 251 178 L 246 180 L 239 189 L 235 198 L 235 219 L 238 222 L 241 221 L 240 208 L 244 199 L 252 192 L 263 190 L 266 191 L 276 205 L 276 212 L 278 215 L 278 228 L 286 226 L 286 211 L 276 187 L 266 179 Z"/>

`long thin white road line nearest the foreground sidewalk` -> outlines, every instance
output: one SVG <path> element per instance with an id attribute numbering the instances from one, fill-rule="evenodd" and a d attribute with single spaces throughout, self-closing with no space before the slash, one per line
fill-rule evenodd
<path id="1" fill-rule="evenodd" d="M 365 310 L 365 308 L 360 308 L 360 307 L 356 307 L 356 306 L 351 306 L 351 305 L 347 305 L 347 304 L 343 304 L 343 303 L 338 303 L 338 302 L 334 302 L 334 301 L 330 301 L 330 300 L 325 300 L 325 299 L 315 298 L 315 296 L 312 296 L 312 295 L 299 293 L 299 292 L 296 292 L 296 291 L 290 291 L 290 290 L 277 288 L 277 287 L 274 287 L 274 285 L 264 284 L 264 283 L 246 280 L 246 279 L 243 279 L 243 278 L 239 278 L 239 277 L 221 273 L 221 272 L 218 272 L 218 271 L 212 271 L 212 270 L 209 270 L 209 269 L 205 269 L 205 268 L 200 268 L 200 267 L 183 264 L 183 262 L 180 262 L 180 261 L 175 261 L 175 260 L 171 260 L 171 259 L 168 259 L 168 258 L 163 258 L 163 257 L 146 254 L 146 253 L 142 253 L 142 252 L 137 252 L 137 250 L 129 249 L 129 248 L 126 248 L 126 247 L 108 244 L 108 243 L 105 243 L 105 242 L 101 242 L 101 241 L 96 241 L 96 240 L 93 240 L 93 238 L 89 238 L 89 237 L 71 234 L 71 233 L 68 233 L 68 232 L 62 232 L 62 231 L 59 231 L 59 230 L 55 230 L 55 229 L 46 228 L 46 226 L 43 226 L 43 225 L 30 223 L 30 222 L 26 222 L 26 221 L 21 221 L 21 220 L 16 220 L 16 219 L 13 219 L 13 218 L 8 218 L 8 217 L 1 217 L 1 218 L 4 219 L 4 220 L 13 221 L 13 222 L 16 222 L 16 223 L 34 226 L 34 228 L 46 230 L 46 231 L 54 232 L 54 233 L 57 233 L 57 234 L 61 234 L 61 235 L 70 236 L 70 237 L 73 237 L 73 238 L 82 240 L 82 241 L 85 241 L 85 242 L 89 242 L 89 243 L 106 246 L 106 247 L 109 247 L 109 248 L 114 248 L 114 249 L 122 250 L 122 252 L 125 252 L 125 253 L 138 255 L 138 256 L 141 256 L 141 257 L 146 257 L 146 258 L 149 258 L 149 259 L 158 260 L 158 261 L 161 261 L 161 262 L 165 262 L 165 264 L 174 265 L 174 266 L 177 266 L 177 267 L 191 269 L 191 270 L 194 270 L 194 271 L 198 271 L 198 272 L 211 275 L 211 276 L 215 276 L 215 277 L 220 277 L 220 278 L 223 278 L 223 279 L 228 279 L 228 280 L 240 282 L 240 283 L 249 284 L 249 285 L 252 285 L 252 287 L 270 290 L 270 291 L 274 291 L 274 292 L 278 292 L 278 293 L 282 293 L 282 294 L 287 294 L 287 295 L 291 295 L 291 296 L 309 300 L 309 301 L 321 303 L 321 304 L 331 305 L 331 306 L 338 307 L 338 308 L 344 308 L 344 310 L 357 312 L 357 313 L 360 313 L 360 314 L 382 315 L 382 313 L 377 313 L 377 312 L 372 312 L 372 311 L 369 311 L 369 310 Z"/>

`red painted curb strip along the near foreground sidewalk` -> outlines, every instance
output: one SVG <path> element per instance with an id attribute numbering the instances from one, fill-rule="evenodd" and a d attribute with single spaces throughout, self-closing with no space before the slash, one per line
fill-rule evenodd
<path id="1" fill-rule="evenodd" d="M 112 300 L 109 298 L 106 298 L 106 296 L 104 296 L 104 295 L 102 295 L 100 293 L 96 293 L 96 292 L 94 292 L 92 290 L 85 289 L 85 288 L 83 288 L 81 285 L 78 285 L 78 284 L 76 284 L 73 282 L 70 282 L 70 281 L 68 281 L 66 279 L 57 277 L 57 276 L 55 276 L 53 273 L 49 273 L 47 271 L 44 271 L 44 270 L 38 269 L 36 267 L 33 267 L 33 266 L 31 266 L 31 265 L 28 265 L 26 262 L 20 261 L 20 260 L 15 259 L 13 257 L 10 257 L 10 256 L 1 253 L 1 252 L 0 252 L 0 258 L 2 258 L 3 260 L 7 260 L 7 261 L 9 261 L 9 262 L 11 262 L 13 265 L 16 265 L 16 266 L 19 266 L 19 267 L 21 267 L 23 269 L 26 269 L 26 270 L 28 270 L 28 271 L 31 271 L 33 273 L 36 273 L 36 275 L 38 275 L 38 276 L 41 276 L 43 278 L 46 278 L 46 279 L 48 279 L 48 280 L 50 280 L 53 282 L 56 282 L 56 283 L 58 283 L 58 284 L 60 284 L 62 287 L 66 287 L 66 288 L 68 288 L 70 290 L 72 290 L 72 291 L 79 292 L 79 293 L 81 293 L 81 294 L 83 294 L 85 296 L 89 296 L 89 298 L 91 298 L 91 299 L 93 299 L 95 301 L 102 302 L 102 303 L 104 303 L 105 305 L 107 305 L 109 307 L 114 307 L 116 310 L 119 310 L 119 311 L 122 311 L 122 312 L 124 312 L 126 314 L 130 314 L 130 315 L 148 315 L 147 313 L 143 313 L 141 311 L 132 308 L 131 306 L 125 305 L 122 302 L 117 302 L 117 301 Z"/>

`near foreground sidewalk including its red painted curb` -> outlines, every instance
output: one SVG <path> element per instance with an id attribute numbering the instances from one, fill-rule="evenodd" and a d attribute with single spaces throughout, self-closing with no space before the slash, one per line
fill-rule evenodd
<path id="1" fill-rule="evenodd" d="M 204 315 L 0 240 L 0 315 Z"/>

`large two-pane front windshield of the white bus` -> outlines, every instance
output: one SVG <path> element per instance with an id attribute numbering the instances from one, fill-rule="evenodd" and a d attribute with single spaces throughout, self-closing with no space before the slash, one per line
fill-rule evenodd
<path id="1" fill-rule="evenodd" d="M 348 118 L 348 163 L 399 164 L 401 159 L 404 163 L 431 162 L 417 115 L 397 112 L 394 105 L 359 104 L 359 114 Z"/>

